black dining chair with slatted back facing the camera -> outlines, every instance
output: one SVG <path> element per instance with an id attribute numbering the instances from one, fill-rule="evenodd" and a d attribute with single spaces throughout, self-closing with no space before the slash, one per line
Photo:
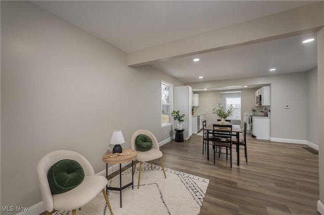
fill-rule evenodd
<path id="1" fill-rule="evenodd" d="M 213 146 L 214 146 L 214 165 L 215 165 L 215 154 L 218 150 L 218 156 L 222 153 L 220 148 L 226 148 L 226 159 L 228 158 L 228 149 L 230 154 L 230 162 L 232 168 L 232 125 L 217 125 L 213 124 Z"/>

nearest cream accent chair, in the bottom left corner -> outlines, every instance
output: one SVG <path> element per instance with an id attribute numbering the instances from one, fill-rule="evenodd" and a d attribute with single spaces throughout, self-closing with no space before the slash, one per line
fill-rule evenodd
<path id="1" fill-rule="evenodd" d="M 70 191 L 60 194 L 52 194 L 47 179 L 47 173 L 52 165 L 62 159 L 71 159 L 78 162 L 84 170 L 85 178 L 80 185 Z M 108 180 L 103 176 L 96 176 L 89 161 L 81 154 L 69 150 L 52 151 L 39 160 L 37 164 L 37 174 L 43 204 L 47 210 L 47 214 L 51 214 L 55 209 L 72 210 L 72 214 L 75 215 L 76 208 L 80 209 L 80 207 L 86 205 L 101 191 L 107 202 L 110 214 L 113 214 L 105 191 Z"/>

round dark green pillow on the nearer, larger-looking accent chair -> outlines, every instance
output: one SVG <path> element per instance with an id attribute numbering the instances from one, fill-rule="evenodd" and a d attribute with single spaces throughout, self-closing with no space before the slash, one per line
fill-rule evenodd
<path id="1" fill-rule="evenodd" d="M 82 166 L 75 160 L 64 159 L 54 164 L 47 172 L 53 194 L 64 193 L 81 184 L 85 178 Z"/>

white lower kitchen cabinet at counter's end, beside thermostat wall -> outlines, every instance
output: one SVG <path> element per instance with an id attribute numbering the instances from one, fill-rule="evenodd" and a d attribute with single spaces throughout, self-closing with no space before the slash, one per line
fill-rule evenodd
<path id="1" fill-rule="evenodd" d="M 252 134 L 257 139 L 270 140 L 270 118 L 253 116 Z"/>

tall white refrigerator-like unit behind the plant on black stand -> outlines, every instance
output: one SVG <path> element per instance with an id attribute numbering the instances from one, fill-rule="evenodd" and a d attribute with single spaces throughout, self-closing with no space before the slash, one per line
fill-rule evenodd
<path id="1" fill-rule="evenodd" d="M 183 139 L 187 140 L 192 135 L 192 88 L 190 86 L 174 87 L 174 106 L 173 110 L 180 111 L 180 114 L 185 114 L 183 118 L 182 129 Z M 177 128 L 178 121 L 174 122 L 174 128 Z"/>

